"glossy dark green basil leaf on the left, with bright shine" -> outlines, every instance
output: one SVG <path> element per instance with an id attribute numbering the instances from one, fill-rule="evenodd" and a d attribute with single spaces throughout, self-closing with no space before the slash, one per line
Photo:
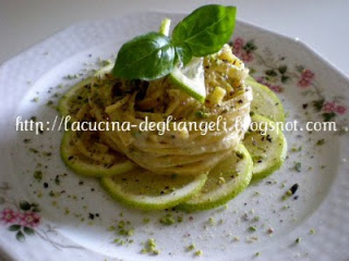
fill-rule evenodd
<path id="1" fill-rule="evenodd" d="M 155 80 L 170 73 L 176 56 L 170 38 L 150 32 L 121 46 L 112 74 L 124 79 Z"/>

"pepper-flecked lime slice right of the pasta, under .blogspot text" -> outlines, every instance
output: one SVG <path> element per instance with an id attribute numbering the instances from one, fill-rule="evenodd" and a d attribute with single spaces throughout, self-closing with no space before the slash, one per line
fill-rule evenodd
<path id="1" fill-rule="evenodd" d="M 260 115 L 252 117 L 251 126 L 261 124 L 259 130 L 248 130 L 245 133 L 243 144 L 253 160 L 252 179 L 258 180 L 272 174 L 279 169 L 286 157 L 287 141 L 276 124 Z M 265 126 L 268 125 L 266 133 Z M 274 126 L 274 129 L 272 126 Z M 254 127 L 253 127 L 254 128 Z"/>

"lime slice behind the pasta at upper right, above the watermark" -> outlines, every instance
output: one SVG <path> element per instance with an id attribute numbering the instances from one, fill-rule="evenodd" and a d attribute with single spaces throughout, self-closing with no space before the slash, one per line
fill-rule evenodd
<path id="1" fill-rule="evenodd" d="M 252 87 L 253 100 L 251 111 L 267 117 L 272 121 L 285 120 L 285 113 L 281 101 L 267 86 L 259 84 L 251 76 L 246 79 L 246 84 Z"/>

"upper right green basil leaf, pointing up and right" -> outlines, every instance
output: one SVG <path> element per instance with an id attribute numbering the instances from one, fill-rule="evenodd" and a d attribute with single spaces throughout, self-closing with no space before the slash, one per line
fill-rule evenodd
<path id="1" fill-rule="evenodd" d="M 174 27 L 172 42 L 190 49 L 195 57 L 218 52 L 235 28 L 235 6 L 206 5 L 194 10 Z"/>

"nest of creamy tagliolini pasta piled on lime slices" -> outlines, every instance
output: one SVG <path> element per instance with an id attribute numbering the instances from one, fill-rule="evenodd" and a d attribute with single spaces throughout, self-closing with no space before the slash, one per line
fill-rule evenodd
<path id="1" fill-rule="evenodd" d="M 224 45 L 214 55 L 204 57 L 206 101 L 200 103 L 172 84 L 168 77 L 147 82 L 121 80 L 109 73 L 90 82 L 87 106 L 79 115 L 88 115 L 97 122 L 128 121 L 139 125 L 149 121 L 217 122 L 222 117 L 225 129 L 174 129 L 159 135 L 157 131 L 101 131 L 104 144 L 126 155 L 139 166 L 155 173 L 199 175 L 209 171 L 243 139 L 250 124 L 252 91 L 245 85 L 248 69 L 231 48 Z"/>

